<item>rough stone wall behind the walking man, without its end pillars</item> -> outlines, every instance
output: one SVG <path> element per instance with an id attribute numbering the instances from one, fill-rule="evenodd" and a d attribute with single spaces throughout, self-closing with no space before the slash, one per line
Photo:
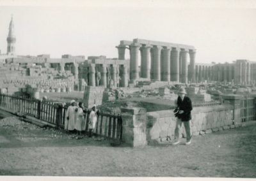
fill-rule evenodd
<path id="1" fill-rule="evenodd" d="M 148 143 L 173 141 L 176 119 L 173 110 L 148 112 L 146 129 Z M 196 136 L 239 126 L 233 123 L 233 119 L 233 106 L 231 105 L 196 107 L 192 111 L 191 131 Z M 186 136 L 183 125 L 180 131 L 181 136 Z"/>

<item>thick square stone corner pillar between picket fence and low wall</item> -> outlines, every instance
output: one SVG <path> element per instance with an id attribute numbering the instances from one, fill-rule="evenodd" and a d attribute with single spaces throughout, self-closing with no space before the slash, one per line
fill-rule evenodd
<path id="1" fill-rule="evenodd" d="M 147 145 L 147 116 L 144 108 L 121 108 L 122 141 L 132 147 Z"/>

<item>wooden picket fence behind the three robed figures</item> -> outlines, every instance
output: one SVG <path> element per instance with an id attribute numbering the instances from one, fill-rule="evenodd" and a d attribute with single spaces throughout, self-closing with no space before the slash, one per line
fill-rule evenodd
<path id="1" fill-rule="evenodd" d="M 44 120 L 57 127 L 65 127 L 67 106 L 50 101 L 20 98 L 8 94 L 0 94 L 0 106 L 13 112 L 24 113 Z M 90 110 L 84 110 L 84 127 L 88 133 Z M 97 124 L 93 132 L 113 140 L 122 140 L 122 117 L 110 113 L 97 113 Z"/>

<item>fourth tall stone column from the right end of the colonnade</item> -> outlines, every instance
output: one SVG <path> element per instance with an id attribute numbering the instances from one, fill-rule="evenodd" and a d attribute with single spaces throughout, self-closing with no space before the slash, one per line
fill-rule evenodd
<path id="1" fill-rule="evenodd" d="M 171 69 L 171 62 L 170 58 L 171 52 L 170 47 L 164 47 L 163 49 L 163 81 L 170 81 L 170 69 Z"/>

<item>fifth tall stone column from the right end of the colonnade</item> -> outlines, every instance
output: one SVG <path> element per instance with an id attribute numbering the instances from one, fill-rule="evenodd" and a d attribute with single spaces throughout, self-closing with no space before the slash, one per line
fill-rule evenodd
<path id="1" fill-rule="evenodd" d="M 161 46 L 154 46 L 153 47 L 153 61 L 154 61 L 154 80 L 161 80 Z"/>

